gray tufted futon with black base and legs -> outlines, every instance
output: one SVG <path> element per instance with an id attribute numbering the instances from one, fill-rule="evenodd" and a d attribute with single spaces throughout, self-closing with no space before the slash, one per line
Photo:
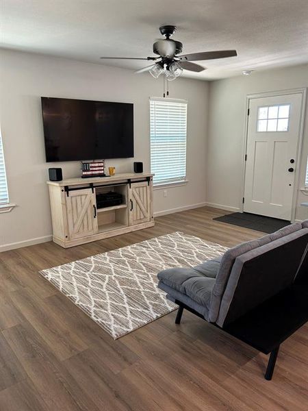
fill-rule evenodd
<path id="1" fill-rule="evenodd" d="M 192 268 L 161 271 L 157 275 L 158 286 L 167 293 L 168 299 L 179 304 L 176 323 L 180 323 L 185 308 L 227 330 L 229 334 L 242 340 L 246 338 L 248 344 L 260 351 L 272 353 L 266 373 L 266 379 L 271 379 L 283 336 L 287 338 L 290 329 L 294 332 L 303 325 L 303 321 L 307 321 L 308 304 L 307 307 L 304 303 L 304 308 L 298 308 L 302 311 L 300 321 L 298 315 L 296 320 L 291 319 L 287 332 L 285 329 L 274 329 L 274 337 L 279 336 L 276 338 L 277 343 L 274 337 L 269 336 L 266 342 L 260 342 L 261 334 L 256 343 L 253 323 L 247 318 L 251 315 L 271 317 L 272 312 L 264 312 L 269 301 L 274 303 L 275 299 L 281 297 L 281 293 L 291 288 L 294 290 L 298 286 L 296 279 L 304 279 L 300 288 L 296 288 L 298 292 L 304 292 L 298 299 L 308 301 L 308 294 L 305 294 L 308 291 L 307 244 L 308 220 L 303 224 L 288 225 L 258 240 L 244 242 L 229 249 L 222 257 Z M 283 310 L 290 310 L 290 306 L 285 307 L 285 300 L 280 301 L 280 304 L 283 305 Z M 242 324 L 241 328 L 239 324 L 243 323 L 243 319 L 246 319 L 246 325 Z M 266 319 L 261 321 L 264 332 L 267 328 L 273 329 L 271 322 L 277 323 L 277 319 L 270 318 L 268 323 Z M 252 327 L 252 336 L 248 340 L 247 337 L 241 338 L 243 332 L 245 334 L 243 327 Z"/>

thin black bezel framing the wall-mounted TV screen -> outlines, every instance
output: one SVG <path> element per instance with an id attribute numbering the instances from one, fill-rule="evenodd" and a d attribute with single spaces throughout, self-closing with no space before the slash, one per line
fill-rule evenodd
<path id="1" fill-rule="evenodd" d="M 77 100 L 77 101 L 90 101 L 90 102 L 96 102 L 96 103 L 115 103 L 115 104 L 127 104 L 132 106 L 132 115 L 133 115 L 133 146 L 132 146 L 132 155 L 118 155 L 117 157 L 104 157 L 104 158 L 77 158 L 75 160 L 48 160 L 47 158 L 47 150 L 46 150 L 46 132 L 45 132 L 45 124 L 44 124 L 44 111 L 43 111 L 43 99 L 59 99 L 59 100 Z M 92 161 L 92 160 L 110 160 L 112 158 L 117 159 L 117 158 L 134 158 L 135 155 L 135 119 L 134 119 L 134 105 L 133 103 L 127 103 L 126 101 L 103 101 L 103 100 L 88 100 L 88 99 L 71 99 L 69 97 L 47 97 L 47 96 L 40 96 L 40 105 L 41 105 L 41 110 L 42 110 L 42 126 L 43 126 L 43 133 L 44 133 L 44 151 L 45 151 L 45 160 L 47 163 L 60 163 L 60 162 L 73 162 L 73 161 Z"/>

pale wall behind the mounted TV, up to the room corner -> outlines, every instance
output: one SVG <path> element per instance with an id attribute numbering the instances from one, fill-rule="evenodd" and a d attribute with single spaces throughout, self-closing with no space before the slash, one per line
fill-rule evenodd
<path id="1" fill-rule="evenodd" d="M 51 236 L 47 169 L 61 166 L 64 178 L 80 175 L 79 162 L 46 163 L 40 96 L 96 99 L 134 103 L 135 160 L 150 169 L 149 97 L 162 96 L 162 79 L 148 73 L 44 55 L 1 52 L 0 124 L 8 174 L 12 212 L 0 214 L 1 246 L 26 245 Z M 207 82 L 177 79 L 170 83 L 170 97 L 188 99 L 189 183 L 155 190 L 154 210 L 165 212 L 205 202 Z M 132 171 L 133 159 L 107 160 L 116 172 Z M 16 245 L 16 244 L 14 244 Z M 2 247 L 5 249 L 5 247 Z"/>

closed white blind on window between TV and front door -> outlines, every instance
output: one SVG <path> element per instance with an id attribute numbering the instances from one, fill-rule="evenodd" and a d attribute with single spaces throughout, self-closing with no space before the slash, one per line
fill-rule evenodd
<path id="1" fill-rule="evenodd" d="M 150 138 L 153 184 L 185 180 L 187 101 L 152 97 Z"/>

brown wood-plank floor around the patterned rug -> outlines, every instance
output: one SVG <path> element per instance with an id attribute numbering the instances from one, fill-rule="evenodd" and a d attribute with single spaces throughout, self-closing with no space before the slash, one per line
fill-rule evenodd
<path id="1" fill-rule="evenodd" d="M 184 312 L 113 340 L 38 274 L 41 269 L 182 231 L 232 246 L 262 233 L 198 208 L 155 227 L 62 249 L 53 242 L 0 254 L 1 411 L 307 411 L 308 326 L 267 356 Z M 292 310 L 292 307 L 290 307 Z"/>

